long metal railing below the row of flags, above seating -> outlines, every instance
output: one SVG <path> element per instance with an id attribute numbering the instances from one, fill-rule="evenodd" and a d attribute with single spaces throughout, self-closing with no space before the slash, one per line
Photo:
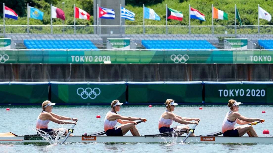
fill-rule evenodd
<path id="1" fill-rule="evenodd" d="M 4 31 L 5 29 L 5 31 Z M 0 33 L 37 33 L 37 34 L 75 34 L 74 25 L 0 25 Z M 213 34 L 213 35 L 237 35 L 237 34 L 273 34 L 272 25 L 263 26 L 166 26 L 166 25 L 76 25 L 76 34 Z M 143 30 L 145 29 L 145 30 Z M 191 30 L 189 30 L 191 29 Z M 260 30 L 259 30 L 260 29 Z M 145 33 L 143 33 L 145 31 Z"/>

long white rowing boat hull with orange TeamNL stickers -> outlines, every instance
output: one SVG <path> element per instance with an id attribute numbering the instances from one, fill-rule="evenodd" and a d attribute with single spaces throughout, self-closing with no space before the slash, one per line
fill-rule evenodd
<path id="1" fill-rule="evenodd" d="M 52 137 L 54 141 L 62 142 L 65 136 Z M 181 143 L 185 136 L 70 136 L 69 143 L 93 143 L 93 142 L 128 142 L 128 143 Z M 44 137 L 37 135 L 17 136 L 11 132 L 0 136 L 0 143 L 36 143 L 48 142 Z M 223 136 L 197 136 L 189 137 L 185 143 L 273 143 L 273 137 L 223 137 Z"/>

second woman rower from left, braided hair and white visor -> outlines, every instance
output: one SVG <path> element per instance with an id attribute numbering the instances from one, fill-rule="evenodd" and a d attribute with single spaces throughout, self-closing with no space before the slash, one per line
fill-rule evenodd
<path id="1" fill-rule="evenodd" d="M 107 112 L 105 119 L 104 119 L 104 131 L 107 136 L 123 136 L 126 134 L 129 130 L 133 134 L 133 136 L 140 136 L 138 133 L 138 130 L 135 127 L 137 120 L 141 120 L 143 122 L 146 121 L 145 118 L 136 118 L 136 117 L 124 117 L 121 115 L 118 115 L 117 112 L 120 111 L 120 105 L 123 103 L 120 103 L 118 100 L 114 100 L 111 103 L 111 111 Z M 124 121 L 128 120 L 128 121 Z M 119 127 L 115 127 L 117 125 L 117 122 L 120 124 L 123 124 Z"/>

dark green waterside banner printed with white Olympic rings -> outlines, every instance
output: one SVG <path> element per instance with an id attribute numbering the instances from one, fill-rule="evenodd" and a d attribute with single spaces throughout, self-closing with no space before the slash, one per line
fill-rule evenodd
<path id="1" fill-rule="evenodd" d="M 50 82 L 53 103 L 109 103 L 126 101 L 126 82 Z"/>

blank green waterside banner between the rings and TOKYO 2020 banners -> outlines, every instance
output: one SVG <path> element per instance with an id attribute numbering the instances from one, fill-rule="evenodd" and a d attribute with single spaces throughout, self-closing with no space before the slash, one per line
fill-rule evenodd
<path id="1" fill-rule="evenodd" d="M 202 81 L 188 82 L 127 82 L 129 103 L 201 103 Z"/>

